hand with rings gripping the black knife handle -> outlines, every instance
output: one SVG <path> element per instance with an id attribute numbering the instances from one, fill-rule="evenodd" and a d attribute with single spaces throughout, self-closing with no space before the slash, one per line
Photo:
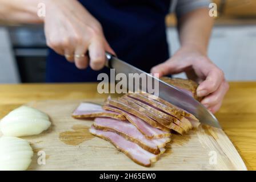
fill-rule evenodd
<path id="1" fill-rule="evenodd" d="M 89 64 L 94 70 L 105 65 L 105 51 L 114 53 L 103 35 L 101 24 L 78 1 L 46 1 L 45 35 L 47 46 L 79 69 Z"/>

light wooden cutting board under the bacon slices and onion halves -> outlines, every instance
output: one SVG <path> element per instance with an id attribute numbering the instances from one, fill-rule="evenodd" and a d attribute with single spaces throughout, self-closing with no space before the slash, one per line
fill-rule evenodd
<path id="1" fill-rule="evenodd" d="M 156 163 L 151 167 L 139 166 L 109 142 L 91 135 L 89 128 L 93 121 L 71 117 L 80 102 L 35 101 L 27 104 L 47 113 L 52 122 L 44 133 L 23 137 L 34 150 L 30 170 L 246 170 L 226 134 L 208 126 L 183 136 L 173 134 L 165 154 Z M 45 164 L 38 164 L 39 151 L 46 154 Z"/>

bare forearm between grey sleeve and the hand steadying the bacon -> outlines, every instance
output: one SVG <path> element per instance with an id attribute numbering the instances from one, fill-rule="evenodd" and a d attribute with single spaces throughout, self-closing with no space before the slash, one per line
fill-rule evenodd
<path id="1" fill-rule="evenodd" d="M 195 48 L 206 55 L 214 19 L 207 8 L 197 9 L 178 19 L 182 47 Z"/>

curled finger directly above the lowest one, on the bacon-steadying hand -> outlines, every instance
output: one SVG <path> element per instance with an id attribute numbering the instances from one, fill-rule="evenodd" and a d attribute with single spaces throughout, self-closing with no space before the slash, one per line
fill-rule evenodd
<path id="1" fill-rule="evenodd" d="M 215 92 L 223 80 L 224 74 L 220 69 L 211 69 L 209 74 L 206 75 L 206 80 L 199 84 L 197 88 L 197 96 L 203 97 Z"/>

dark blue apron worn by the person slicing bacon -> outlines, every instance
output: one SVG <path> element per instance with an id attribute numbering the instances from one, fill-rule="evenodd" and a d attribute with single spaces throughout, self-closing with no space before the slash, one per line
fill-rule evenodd
<path id="1" fill-rule="evenodd" d="M 83 6 L 102 24 L 107 42 L 119 59 L 150 72 L 169 58 L 165 16 L 170 0 L 81 0 Z M 50 49 L 47 57 L 47 82 L 97 81 L 99 73 L 79 70 Z"/>

